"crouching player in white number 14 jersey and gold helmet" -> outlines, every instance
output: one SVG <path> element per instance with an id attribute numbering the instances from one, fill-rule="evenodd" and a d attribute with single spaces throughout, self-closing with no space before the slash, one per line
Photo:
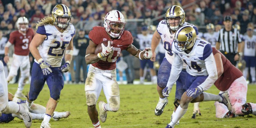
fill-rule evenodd
<path id="1" fill-rule="evenodd" d="M 217 68 L 212 54 L 211 45 L 196 37 L 196 31 L 191 26 L 181 26 L 174 34 L 174 42 L 171 45 L 174 54 L 172 70 L 166 87 L 163 89 L 163 96 L 168 97 L 173 84 L 177 81 L 183 63 L 186 63 L 187 77 L 186 87 L 189 87 L 181 96 L 180 105 L 177 107 L 171 122 L 166 128 L 173 128 L 180 118 L 186 113 L 190 102 L 218 101 L 231 110 L 228 93 L 219 95 L 206 93 L 217 80 Z"/>

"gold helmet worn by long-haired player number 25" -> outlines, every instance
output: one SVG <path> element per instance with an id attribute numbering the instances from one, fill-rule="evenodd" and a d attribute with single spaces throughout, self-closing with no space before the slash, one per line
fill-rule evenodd
<path id="1" fill-rule="evenodd" d="M 52 9 L 53 24 L 66 29 L 71 20 L 71 12 L 64 4 L 58 4 Z"/>

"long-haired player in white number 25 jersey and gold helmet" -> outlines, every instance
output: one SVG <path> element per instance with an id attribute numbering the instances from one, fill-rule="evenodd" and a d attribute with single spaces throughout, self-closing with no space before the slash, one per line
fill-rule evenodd
<path id="1" fill-rule="evenodd" d="M 51 16 L 44 17 L 37 25 L 36 35 L 29 50 L 35 58 L 32 67 L 27 106 L 30 107 L 44 87 L 45 81 L 50 89 L 46 113 L 41 128 L 50 128 L 49 121 L 57 107 L 60 92 L 64 87 L 62 72 L 67 72 L 73 54 L 75 28 L 70 24 L 71 12 L 64 4 L 56 5 Z M 61 62 L 65 53 L 65 64 Z"/>

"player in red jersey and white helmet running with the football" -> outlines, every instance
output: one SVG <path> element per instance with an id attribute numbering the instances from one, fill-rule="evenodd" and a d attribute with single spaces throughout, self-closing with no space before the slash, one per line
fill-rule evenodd
<path id="1" fill-rule="evenodd" d="M 122 50 L 127 50 L 139 59 L 150 59 L 151 48 L 138 50 L 132 45 L 133 37 L 124 30 L 125 19 L 120 11 L 112 10 L 104 17 L 104 27 L 96 26 L 89 33 L 89 46 L 86 49 L 86 64 L 91 64 L 85 81 L 86 104 L 88 114 L 95 128 L 101 128 L 96 103 L 103 88 L 107 103 L 99 101 L 101 122 L 105 122 L 107 111 L 116 112 L 120 107 L 120 93 L 116 82 L 116 60 Z M 102 43 L 102 52 L 95 54 L 95 48 L 101 42 L 109 40 L 108 46 Z M 110 46 L 111 43 L 111 46 Z"/>

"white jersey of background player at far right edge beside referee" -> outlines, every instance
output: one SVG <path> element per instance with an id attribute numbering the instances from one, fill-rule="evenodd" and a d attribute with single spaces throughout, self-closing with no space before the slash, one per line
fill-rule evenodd
<path id="1" fill-rule="evenodd" d="M 249 37 L 248 35 L 244 35 L 242 40 L 244 40 L 244 55 L 255 56 L 256 36 Z"/>

